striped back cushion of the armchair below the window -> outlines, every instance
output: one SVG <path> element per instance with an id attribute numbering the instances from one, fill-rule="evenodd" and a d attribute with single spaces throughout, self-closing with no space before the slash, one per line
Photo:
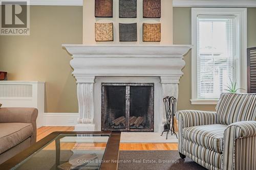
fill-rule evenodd
<path id="1" fill-rule="evenodd" d="M 256 120 L 256 94 L 222 93 L 216 107 L 217 123 Z"/>

